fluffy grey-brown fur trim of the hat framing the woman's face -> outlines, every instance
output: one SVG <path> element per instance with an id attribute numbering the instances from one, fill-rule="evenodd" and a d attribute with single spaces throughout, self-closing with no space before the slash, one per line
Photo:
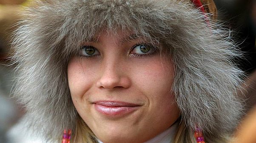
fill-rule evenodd
<path id="1" fill-rule="evenodd" d="M 172 89 L 186 128 L 205 139 L 230 134 L 241 115 L 234 96 L 242 72 L 230 31 L 208 19 L 190 0 L 44 0 L 23 13 L 14 33 L 14 95 L 27 121 L 47 140 L 75 129 L 79 118 L 68 88 L 67 65 L 79 44 L 107 31 L 132 31 L 168 49 L 175 65 Z M 157 45 L 156 45 L 157 46 Z M 170 103 L 171 104 L 171 103 Z"/>

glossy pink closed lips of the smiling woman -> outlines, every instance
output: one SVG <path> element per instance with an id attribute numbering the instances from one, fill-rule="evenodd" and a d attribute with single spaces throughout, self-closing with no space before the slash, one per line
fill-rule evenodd
<path id="1" fill-rule="evenodd" d="M 131 113 L 132 111 L 136 110 L 139 105 L 127 102 L 101 101 L 95 102 L 94 107 L 98 112 L 104 115 L 116 116 Z"/>

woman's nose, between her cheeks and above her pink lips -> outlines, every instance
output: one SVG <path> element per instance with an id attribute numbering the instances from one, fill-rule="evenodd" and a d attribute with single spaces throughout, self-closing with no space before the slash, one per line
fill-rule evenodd
<path id="1" fill-rule="evenodd" d="M 114 88 L 129 88 L 131 80 L 128 77 L 127 69 L 121 66 L 121 63 L 105 63 L 101 76 L 97 81 L 98 88 L 114 89 Z"/>

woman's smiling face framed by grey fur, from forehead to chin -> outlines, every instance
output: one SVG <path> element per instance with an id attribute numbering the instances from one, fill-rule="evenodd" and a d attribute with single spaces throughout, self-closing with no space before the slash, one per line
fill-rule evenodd
<path id="1" fill-rule="evenodd" d="M 102 33 L 68 63 L 77 112 L 104 143 L 137 143 L 165 131 L 179 110 L 174 65 L 139 37 Z"/>

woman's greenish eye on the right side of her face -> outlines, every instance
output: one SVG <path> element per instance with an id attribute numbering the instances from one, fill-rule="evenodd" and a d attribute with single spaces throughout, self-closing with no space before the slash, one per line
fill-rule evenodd
<path id="1" fill-rule="evenodd" d="M 146 44 L 137 44 L 132 50 L 131 54 L 133 55 L 149 55 L 156 51 L 156 49 L 152 46 L 148 46 Z"/>

